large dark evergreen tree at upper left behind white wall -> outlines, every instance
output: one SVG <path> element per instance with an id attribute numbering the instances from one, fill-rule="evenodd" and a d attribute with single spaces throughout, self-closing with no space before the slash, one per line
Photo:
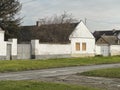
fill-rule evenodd
<path id="1" fill-rule="evenodd" d="M 17 37 L 20 18 L 16 14 L 21 10 L 18 0 L 0 0 L 0 27 L 5 30 L 5 38 Z"/>

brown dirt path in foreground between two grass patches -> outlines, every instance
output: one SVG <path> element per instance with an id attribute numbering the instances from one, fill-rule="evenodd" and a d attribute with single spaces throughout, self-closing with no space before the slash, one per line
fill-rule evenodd
<path id="1" fill-rule="evenodd" d="M 56 76 L 39 78 L 40 81 L 59 82 L 67 84 L 77 84 L 102 88 L 105 90 L 120 90 L 120 79 L 117 78 L 102 78 L 102 77 L 87 77 L 78 75 Z"/>

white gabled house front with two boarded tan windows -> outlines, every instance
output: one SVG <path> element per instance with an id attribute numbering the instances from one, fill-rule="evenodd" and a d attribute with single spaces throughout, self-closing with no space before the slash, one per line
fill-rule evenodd
<path id="1" fill-rule="evenodd" d="M 72 56 L 95 55 L 95 38 L 82 21 L 76 26 L 69 39 L 71 40 Z"/>

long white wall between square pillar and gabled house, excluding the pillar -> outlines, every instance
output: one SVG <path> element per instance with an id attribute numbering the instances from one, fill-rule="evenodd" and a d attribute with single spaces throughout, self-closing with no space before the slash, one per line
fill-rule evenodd
<path id="1" fill-rule="evenodd" d="M 71 54 L 70 44 L 40 44 L 40 55 Z"/>

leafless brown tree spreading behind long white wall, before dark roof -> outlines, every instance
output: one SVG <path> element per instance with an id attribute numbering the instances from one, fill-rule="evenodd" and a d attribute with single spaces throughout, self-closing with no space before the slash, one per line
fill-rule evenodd
<path id="1" fill-rule="evenodd" d="M 69 35 L 75 27 L 77 20 L 64 12 L 61 15 L 53 15 L 40 19 L 38 26 L 33 30 L 33 37 L 40 42 L 68 43 Z"/>

